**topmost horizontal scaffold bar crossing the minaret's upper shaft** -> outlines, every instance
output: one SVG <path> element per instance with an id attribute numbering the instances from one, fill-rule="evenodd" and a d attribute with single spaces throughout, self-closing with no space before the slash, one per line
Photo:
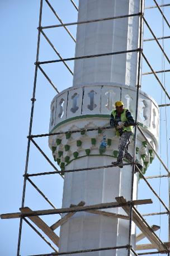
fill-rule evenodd
<path id="1" fill-rule="evenodd" d="M 59 28 L 59 27 L 63 27 L 63 26 L 81 25 L 81 24 L 86 24 L 86 23 L 107 21 L 107 20 L 116 20 L 116 19 L 122 19 L 122 18 L 128 18 L 128 17 L 140 16 L 140 15 L 143 15 L 143 13 L 138 12 L 138 13 L 133 13 L 133 14 L 129 14 L 129 15 L 120 15 L 120 16 L 115 16 L 115 17 L 107 17 L 107 18 L 103 18 L 103 19 L 70 22 L 70 23 L 57 24 L 57 25 L 51 25 L 51 26 L 41 26 L 37 29 Z"/>

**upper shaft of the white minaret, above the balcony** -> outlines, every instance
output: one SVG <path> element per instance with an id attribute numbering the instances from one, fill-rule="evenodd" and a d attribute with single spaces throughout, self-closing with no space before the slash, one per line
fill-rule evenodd
<path id="1" fill-rule="evenodd" d="M 78 21 L 139 13 L 139 0 L 79 1 Z M 139 16 L 79 25 L 75 56 L 120 52 L 138 48 Z M 114 83 L 136 85 L 137 54 L 75 61 L 73 85 Z"/>

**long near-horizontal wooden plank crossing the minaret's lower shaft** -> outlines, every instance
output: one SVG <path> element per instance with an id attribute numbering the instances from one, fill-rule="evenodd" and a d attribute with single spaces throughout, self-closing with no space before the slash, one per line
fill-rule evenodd
<path id="1" fill-rule="evenodd" d="M 134 200 L 134 205 L 140 205 L 140 204 L 152 204 L 152 199 L 144 199 L 144 200 Z M 128 202 L 123 203 L 128 205 Z M 41 216 L 41 215 L 48 215 L 48 214 L 59 214 L 59 213 L 69 213 L 69 212 L 83 212 L 88 210 L 94 210 L 94 209 L 107 209 L 107 208 L 116 208 L 116 207 L 122 207 L 122 203 L 117 202 L 110 202 L 110 203 L 101 203 L 101 204 L 93 204 L 93 205 L 87 205 L 87 206 L 79 206 L 79 207 L 70 207 L 70 208 L 61 208 L 61 209 L 48 209 L 48 210 L 40 210 L 40 211 L 32 211 L 32 213 L 25 214 L 26 216 Z M 22 208 L 20 208 L 21 211 Z M 1 214 L 2 219 L 8 219 L 8 218 L 20 218 L 21 213 L 6 213 Z"/>

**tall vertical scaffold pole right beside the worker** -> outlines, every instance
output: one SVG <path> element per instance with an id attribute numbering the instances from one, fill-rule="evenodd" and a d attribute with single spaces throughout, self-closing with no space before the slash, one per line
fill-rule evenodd
<path id="1" fill-rule="evenodd" d="M 138 102 L 139 102 L 139 91 L 140 91 L 140 83 L 141 83 L 141 57 L 142 57 L 142 45 L 143 45 L 143 0 L 140 0 L 140 16 L 139 16 L 139 60 L 138 60 L 138 77 L 137 77 L 137 85 L 136 85 L 136 109 L 135 109 L 135 122 L 137 122 L 138 118 Z M 135 159 L 136 159 L 136 140 L 137 140 L 137 126 L 135 126 L 135 136 L 134 136 L 134 151 L 133 151 L 133 167 L 131 173 L 131 198 L 130 198 L 130 220 L 129 220 L 129 248 L 128 248 L 128 256 L 130 256 L 131 252 L 131 222 L 132 222 L 132 214 L 133 214 L 133 186 L 134 186 L 134 172 L 135 172 Z"/>

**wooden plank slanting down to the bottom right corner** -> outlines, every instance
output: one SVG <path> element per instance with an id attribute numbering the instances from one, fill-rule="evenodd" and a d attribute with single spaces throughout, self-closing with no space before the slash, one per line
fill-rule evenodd
<path id="1" fill-rule="evenodd" d="M 118 203 L 126 203 L 126 199 L 123 196 L 116 197 L 116 201 Z M 129 205 L 122 206 L 122 209 L 130 216 L 130 207 Z M 154 233 L 154 231 L 150 228 L 148 223 L 144 220 L 144 218 L 140 215 L 140 213 L 135 209 L 133 209 L 132 220 L 139 227 L 141 232 L 148 238 L 150 243 L 152 243 L 155 248 L 159 250 L 167 250 L 166 245 L 162 243 L 159 237 Z"/>

